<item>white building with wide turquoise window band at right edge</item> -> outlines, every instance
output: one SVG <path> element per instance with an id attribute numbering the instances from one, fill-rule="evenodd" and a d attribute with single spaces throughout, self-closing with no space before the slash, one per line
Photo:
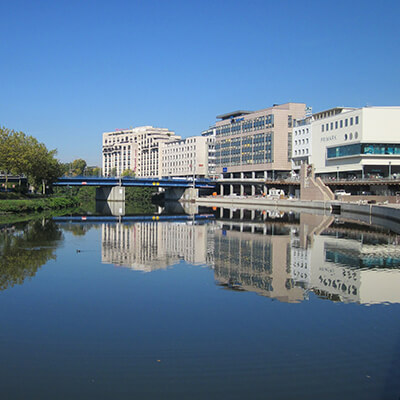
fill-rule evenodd
<path id="1" fill-rule="evenodd" d="M 399 173 L 399 127 L 400 107 L 336 107 L 313 114 L 315 173 L 340 178 Z"/>

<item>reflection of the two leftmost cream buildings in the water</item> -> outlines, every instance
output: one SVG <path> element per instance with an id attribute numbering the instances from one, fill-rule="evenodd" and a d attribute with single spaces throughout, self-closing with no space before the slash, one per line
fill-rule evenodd
<path id="1" fill-rule="evenodd" d="M 207 231 L 193 222 L 139 222 L 102 225 L 102 262 L 150 272 L 185 260 L 205 264 Z"/>

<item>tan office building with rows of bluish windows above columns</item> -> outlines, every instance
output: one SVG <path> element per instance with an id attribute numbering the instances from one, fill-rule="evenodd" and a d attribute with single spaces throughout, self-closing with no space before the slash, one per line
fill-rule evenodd
<path id="1" fill-rule="evenodd" d="M 288 175 L 294 122 L 305 117 L 303 103 L 218 115 L 219 121 L 206 131 L 215 129 L 216 172 L 229 177 Z"/>

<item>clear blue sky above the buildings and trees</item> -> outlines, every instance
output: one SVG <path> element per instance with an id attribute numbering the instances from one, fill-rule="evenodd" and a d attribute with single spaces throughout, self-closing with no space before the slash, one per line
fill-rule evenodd
<path id="1" fill-rule="evenodd" d="M 0 126 L 100 165 L 101 135 L 183 137 L 273 103 L 400 105 L 399 1 L 0 0 Z"/>

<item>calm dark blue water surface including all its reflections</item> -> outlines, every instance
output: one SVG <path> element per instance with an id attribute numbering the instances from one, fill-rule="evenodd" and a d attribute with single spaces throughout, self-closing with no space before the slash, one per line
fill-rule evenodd
<path id="1" fill-rule="evenodd" d="M 398 400 L 399 237 L 216 215 L 1 228 L 1 398 Z"/>

